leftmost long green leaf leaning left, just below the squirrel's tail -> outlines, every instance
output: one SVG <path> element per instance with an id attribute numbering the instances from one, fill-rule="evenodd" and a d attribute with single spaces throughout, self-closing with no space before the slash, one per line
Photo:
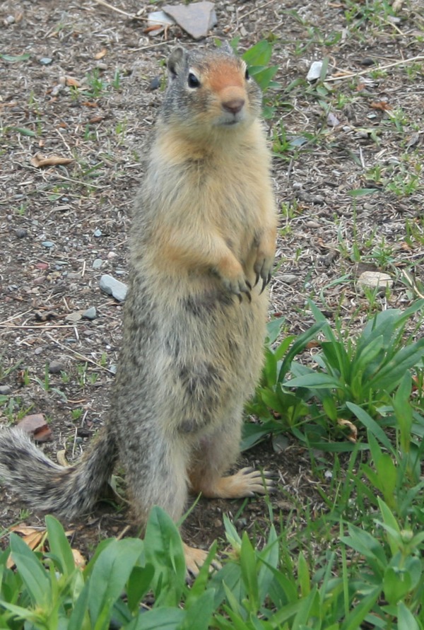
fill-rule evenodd
<path id="1" fill-rule="evenodd" d="M 13 533 L 11 534 L 11 552 L 33 604 L 43 607 L 52 597 L 52 587 L 47 571 L 28 544 Z"/>

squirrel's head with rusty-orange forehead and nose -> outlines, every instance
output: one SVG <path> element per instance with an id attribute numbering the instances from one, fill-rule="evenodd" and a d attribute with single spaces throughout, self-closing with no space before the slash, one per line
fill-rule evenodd
<path id="1" fill-rule="evenodd" d="M 172 50 L 162 119 L 191 134 L 228 133 L 261 115 L 261 91 L 230 47 Z"/>

